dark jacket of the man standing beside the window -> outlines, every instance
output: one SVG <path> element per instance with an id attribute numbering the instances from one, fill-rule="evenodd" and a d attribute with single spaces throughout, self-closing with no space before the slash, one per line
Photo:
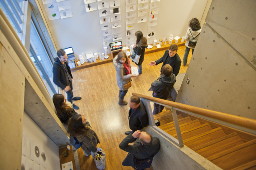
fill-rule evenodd
<path id="1" fill-rule="evenodd" d="M 70 67 L 68 65 L 68 62 L 64 62 L 64 64 L 62 64 L 58 57 L 54 58 L 54 61 L 55 62 L 53 63 L 53 69 L 52 69 L 53 82 L 54 82 L 54 84 L 59 86 L 61 89 L 65 89 L 66 86 L 69 85 L 69 77 L 66 73 L 65 66 L 68 70 L 69 75 L 71 76 L 71 79 L 73 79 Z M 72 90 L 72 87 L 70 87 L 70 88 Z"/>

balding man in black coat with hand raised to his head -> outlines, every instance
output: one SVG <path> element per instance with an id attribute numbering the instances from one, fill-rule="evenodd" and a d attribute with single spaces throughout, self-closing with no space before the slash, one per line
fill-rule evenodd
<path id="1" fill-rule="evenodd" d="M 133 142 L 136 138 L 135 143 L 129 145 L 129 143 Z M 160 141 L 157 137 L 152 137 L 148 132 L 135 131 L 124 138 L 119 147 L 121 150 L 129 152 L 122 162 L 122 165 L 135 167 L 134 157 L 137 160 L 143 160 L 153 154 L 157 154 L 157 150 L 160 148 Z"/>

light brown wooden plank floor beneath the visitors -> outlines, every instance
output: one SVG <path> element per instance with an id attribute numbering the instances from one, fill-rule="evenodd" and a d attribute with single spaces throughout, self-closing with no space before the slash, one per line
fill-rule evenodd
<path id="1" fill-rule="evenodd" d="M 185 46 L 178 48 L 178 55 L 183 61 Z M 143 74 L 132 78 L 132 87 L 128 90 L 125 100 L 129 100 L 131 93 L 152 96 L 149 92 L 150 84 L 159 77 L 162 64 L 149 67 L 150 61 L 162 57 L 164 51 L 146 54 L 143 62 Z M 191 59 L 191 50 L 188 55 L 186 67 L 181 64 L 180 73 L 186 72 Z M 135 65 L 135 64 L 134 64 Z M 106 170 L 133 170 L 131 167 L 122 166 L 127 152 L 122 151 L 118 145 L 129 131 L 128 111 L 129 106 L 118 105 L 118 86 L 116 70 L 113 63 L 89 67 L 72 72 L 74 96 L 81 96 L 82 100 L 74 101 L 80 107 L 78 114 L 84 115 L 90 122 L 92 129 L 97 133 L 100 144 L 106 152 Z M 85 157 L 82 149 L 78 150 L 80 169 L 97 170 L 92 156 Z M 151 167 L 150 170 L 153 170 Z"/>

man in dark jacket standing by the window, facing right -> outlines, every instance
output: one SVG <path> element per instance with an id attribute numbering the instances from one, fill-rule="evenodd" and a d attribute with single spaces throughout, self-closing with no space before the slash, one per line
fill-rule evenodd
<path id="1" fill-rule="evenodd" d="M 72 103 L 72 100 L 81 100 L 81 97 L 73 97 L 72 86 L 72 74 L 68 65 L 68 56 L 63 49 L 57 51 L 57 58 L 54 58 L 53 63 L 53 82 L 68 94 L 68 101 Z M 78 110 L 79 107 L 73 104 L 73 108 Z"/>

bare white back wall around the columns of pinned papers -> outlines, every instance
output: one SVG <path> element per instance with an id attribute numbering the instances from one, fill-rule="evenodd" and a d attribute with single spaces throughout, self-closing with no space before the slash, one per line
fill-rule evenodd
<path id="1" fill-rule="evenodd" d="M 120 1 L 122 42 L 125 44 L 126 0 Z M 73 17 L 49 21 L 42 1 L 38 0 L 38 3 L 42 8 L 43 15 L 45 15 L 46 22 L 57 49 L 71 46 L 74 49 L 75 55 L 79 55 L 82 52 L 103 52 L 98 10 L 87 13 L 84 0 L 70 0 Z M 156 37 L 148 39 L 148 41 L 153 41 L 153 39 L 159 40 L 160 38 L 168 37 L 169 34 L 173 34 L 174 37 L 185 36 L 189 20 L 194 17 L 201 20 L 206 3 L 207 0 L 161 0 Z M 135 31 L 141 30 L 145 37 L 147 29 L 148 22 L 136 23 Z"/>

